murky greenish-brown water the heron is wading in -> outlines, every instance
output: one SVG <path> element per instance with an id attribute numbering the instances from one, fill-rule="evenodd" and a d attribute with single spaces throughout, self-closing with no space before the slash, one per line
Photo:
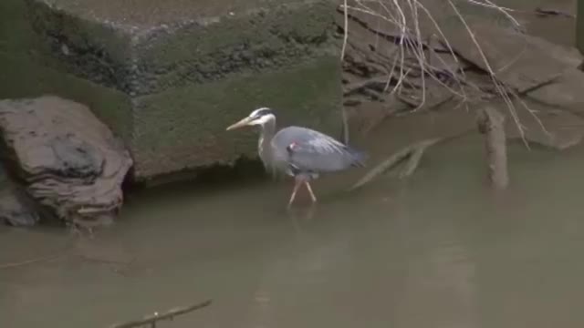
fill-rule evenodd
<path id="1" fill-rule="evenodd" d="M 130 198 L 123 220 L 61 258 L 0 270 L 3 327 L 102 327 L 213 299 L 161 327 L 580 327 L 584 149 L 510 151 L 485 188 L 482 147 L 436 147 L 409 182 L 285 210 L 289 185 Z M 63 248 L 0 230 L 0 263 Z"/>

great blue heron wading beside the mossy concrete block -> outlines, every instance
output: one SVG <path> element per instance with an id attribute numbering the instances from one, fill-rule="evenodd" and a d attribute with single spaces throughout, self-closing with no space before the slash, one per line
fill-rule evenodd
<path id="1" fill-rule="evenodd" d="M 295 200 L 302 184 L 307 186 L 312 201 L 317 201 L 310 180 L 317 179 L 320 173 L 364 166 L 364 153 L 321 132 L 310 128 L 287 127 L 276 133 L 276 116 L 270 108 L 255 109 L 227 130 L 245 126 L 260 128 L 258 152 L 266 169 L 294 177 L 294 190 L 288 206 Z"/>

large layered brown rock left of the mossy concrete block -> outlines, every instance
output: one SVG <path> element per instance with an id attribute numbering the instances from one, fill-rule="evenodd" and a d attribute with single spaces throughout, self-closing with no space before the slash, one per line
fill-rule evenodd
<path id="1" fill-rule="evenodd" d="M 59 97 L 0 101 L 1 153 L 40 208 L 58 219 L 112 218 L 129 152 L 89 110 Z"/>

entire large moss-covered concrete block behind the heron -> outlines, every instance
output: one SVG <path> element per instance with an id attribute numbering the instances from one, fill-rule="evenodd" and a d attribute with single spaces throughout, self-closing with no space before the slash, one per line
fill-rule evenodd
<path id="1" fill-rule="evenodd" d="M 269 106 L 339 131 L 334 1 L 3 0 L 0 97 L 88 105 L 124 139 L 136 179 L 255 154 L 224 128 Z"/>

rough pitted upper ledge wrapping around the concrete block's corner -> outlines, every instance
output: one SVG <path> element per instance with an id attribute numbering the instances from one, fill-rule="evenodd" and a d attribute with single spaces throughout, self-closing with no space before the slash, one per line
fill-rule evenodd
<path id="1" fill-rule="evenodd" d="M 131 96 L 261 73 L 335 52 L 334 3 L 327 0 L 255 1 L 266 4 L 246 5 L 237 14 L 197 6 L 201 13 L 195 15 L 187 5 L 187 13 L 174 20 L 168 12 L 174 13 L 172 5 L 180 0 L 136 6 L 129 18 L 120 16 L 117 5 L 99 5 L 103 1 L 27 1 L 49 65 Z M 148 20 L 148 12 L 157 14 Z"/>

